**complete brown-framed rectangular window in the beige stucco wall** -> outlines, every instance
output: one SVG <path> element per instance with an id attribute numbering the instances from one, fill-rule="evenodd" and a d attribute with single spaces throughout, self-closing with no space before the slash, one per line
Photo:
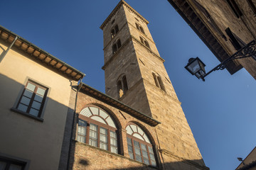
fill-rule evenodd
<path id="1" fill-rule="evenodd" d="M 43 105 L 46 101 L 47 92 L 48 88 L 41 86 L 34 81 L 28 81 L 23 89 L 16 109 L 40 118 Z"/>

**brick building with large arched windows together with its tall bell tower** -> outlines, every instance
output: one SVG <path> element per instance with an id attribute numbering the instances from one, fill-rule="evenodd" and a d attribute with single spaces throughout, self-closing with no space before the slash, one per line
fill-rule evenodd
<path id="1" fill-rule="evenodd" d="M 148 23 L 119 1 L 100 26 L 106 94 L 78 87 L 68 169 L 208 169 Z"/>

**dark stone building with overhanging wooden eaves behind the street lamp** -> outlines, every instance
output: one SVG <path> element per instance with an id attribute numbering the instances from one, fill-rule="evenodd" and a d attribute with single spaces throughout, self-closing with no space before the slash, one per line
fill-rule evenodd
<path id="1" fill-rule="evenodd" d="M 256 40 L 255 0 L 169 0 L 220 62 Z M 255 45 L 254 45 L 255 48 Z M 230 74 L 244 67 L 256 79 L 256 57 L 228 62 Z"/>

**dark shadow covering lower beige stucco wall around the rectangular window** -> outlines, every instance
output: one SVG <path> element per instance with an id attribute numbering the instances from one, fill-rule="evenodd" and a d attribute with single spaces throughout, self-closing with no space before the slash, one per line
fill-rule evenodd
<path id="1" fill-rule="evenodd" d="M 31 118 L 28 114 L 11 111 L 11 108 L 16 108 L 15 103 L 21 97 L 24 84 L 0 74 L 0 136 L 4 136 L 0 140 L 0 152 L 12 157 L 30 160 L 29 169 L 43 170 L 53 169 L 53 167 L 58 169 L 60 152 L 64 155 L 61 157 L 61 162 L 68 160 L 72 124 L 69 128 L 65 125 L 73 123 L 74 110 L 46 97 L 43 121 Z M 48 93 L 51 91 L 53 89 L 50 89 Z M 70 92 L 68 93 L 69 96 Z M 63 134 L 65 134 L 64 137 Z M 62 150 L 56 146 L 62 146 Z M 46 157 L 49 151 L 51 155 Z M 47 164 L 36 164 L 36 162 L 47 162 Z"/>

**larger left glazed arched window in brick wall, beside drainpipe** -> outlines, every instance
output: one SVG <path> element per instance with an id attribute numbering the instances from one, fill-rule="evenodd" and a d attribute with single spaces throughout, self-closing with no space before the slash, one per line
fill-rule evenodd
<path id="1" fill-rule="evenodd" d="M 118 153 L 117 126 L 106 111 L 89 106 L 82 109 L 78 118 L 78 142 Z"/>

